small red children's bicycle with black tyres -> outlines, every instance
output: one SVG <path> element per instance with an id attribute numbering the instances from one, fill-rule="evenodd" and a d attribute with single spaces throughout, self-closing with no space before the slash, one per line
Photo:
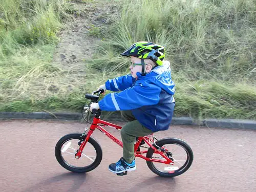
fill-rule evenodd
<path id="1" fill-rule="evenodd" d="M 99 95 L 104 90 L 100 89 L 92 94 L 86 94 L 87 99 L 98 102 Z M 97 95 L 94 95 L 98 93 Z M 90 104 L 91 104 L 90 103 Z M 90 105 L 84 105 L 83 113 L 88 114 L 89 119 Z M 55 146 L 55 157 L 59 164 L 71 172 L 85 173 L 95 169 L 102 160 L 102 150 L 99 143 L 91 136 L 98 129 L 119 146 L 122 142 L 115 138 L 111 133 L 103 129 L 102 126 L 110 126 L 117 130 L 122 127 L 100 119 L 101 111 L 93 110 L 93 122 L 90 130 L 88 128 L 83 133 L 72 133 L 59 139 Z M 88 122 L 88 119 L 86 120 Z M 88 133 L 87 133 L 88 131 Z M 145 144 L 147 146 L 145 146 Z M 145 150 L 141 150 L 141 149 Z M 154 135 L 138 137 L 134 145 L 135 157 L 146 160 L 148 168 L 155 174 L 162 177 L 175 177 L 183 174 L 193 162 L 193 152 L 188 144 L 177 138 L 157 139 Z M 127 172 L 117 175 L 123 176 Z"/>

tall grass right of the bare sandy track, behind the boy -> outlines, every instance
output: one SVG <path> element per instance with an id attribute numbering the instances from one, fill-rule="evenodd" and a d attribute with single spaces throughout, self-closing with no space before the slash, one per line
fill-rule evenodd
<path id="1" fill-rule="evenodd" d="M 120 53 L 134 42 L 165 46 L 176 116 L 256 118 L 255 1 L 125 1 L 105 39 L 91 67 L 113 73 L 125 74 Z"/>

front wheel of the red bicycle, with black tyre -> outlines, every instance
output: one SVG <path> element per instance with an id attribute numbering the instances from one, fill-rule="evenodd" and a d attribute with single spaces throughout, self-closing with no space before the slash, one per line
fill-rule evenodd
<path id="1" fill-rule="evenodd" d="M 76 173 L 90 172 L 101 162 L 102 150 L 97 141 L 90 137 L 83 149 L 81 157 L 75 158 L 75 154 L 82 139 L 81 133 L 73 133 L 63 136 L 55 146 L 55 157 L 59 164 Z M 83 136 L 85 138 L 86 135 Z"/>

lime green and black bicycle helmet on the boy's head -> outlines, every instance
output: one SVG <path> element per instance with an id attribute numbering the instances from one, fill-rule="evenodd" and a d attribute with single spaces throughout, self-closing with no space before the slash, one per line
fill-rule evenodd
<path id="1" fill-rule="evenodd" d="M 122 56 L 134 56 L 141 59 L 151 59 L 156 65 L 162 66 L 165 56 L 163 46 L 154 44 L 153 42 L 139 41 L 133 44 L 129 49 L 121 53 Z"/>

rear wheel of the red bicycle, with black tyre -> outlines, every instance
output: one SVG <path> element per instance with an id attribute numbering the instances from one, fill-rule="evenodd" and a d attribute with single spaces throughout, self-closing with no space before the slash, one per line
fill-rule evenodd
<path id="1" fill-rule="evenodd" d="M 161 177 L 175 177 L 183 174 L 193 162 L 193 152 L 188 144 L 176 138 L 164 138 L 156 142 L 156 145 L 163 147 L 165 155 L 171 158 L 174 165 L 146 161 L 148 168 Z M 154 153 L 153 148 L 149 148 L 146 154 L 147 158 L 165 160 L 160 154 Z"/>

